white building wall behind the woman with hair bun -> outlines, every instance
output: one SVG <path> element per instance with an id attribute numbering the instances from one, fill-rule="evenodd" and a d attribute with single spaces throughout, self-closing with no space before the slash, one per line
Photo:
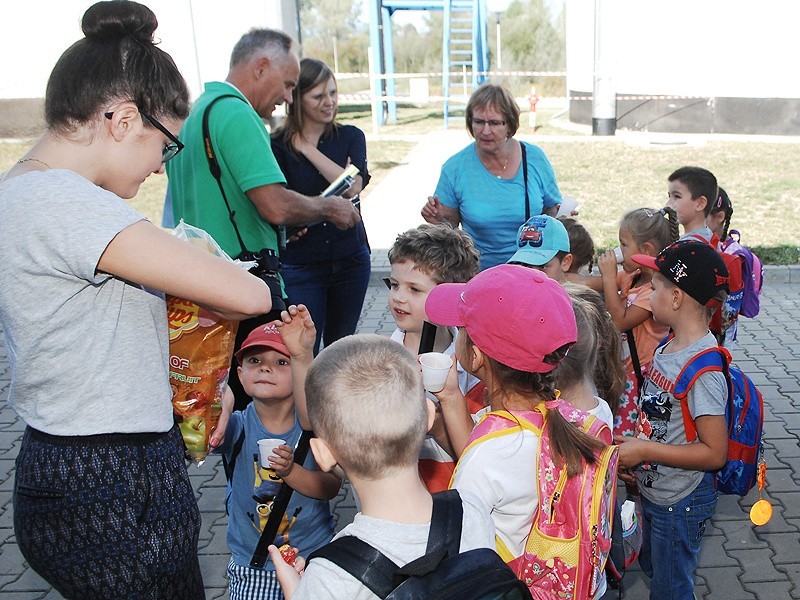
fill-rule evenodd
<path id="1" fill-rule="evenodd" d="M 139 0 L 158 18 L 156 38 L 170 53 L 192 96 L 224 79 L 236 41 L 253 27 L 297 38 L 294 0 Z M 0 137 L 41 130 L 41 98 L 58 57 L 81 39 L 80 20 L 93 0 L 14 0 L 3 4 L 0 36 Z M 196 43 L 195 43 L 196 41 Z"/>

